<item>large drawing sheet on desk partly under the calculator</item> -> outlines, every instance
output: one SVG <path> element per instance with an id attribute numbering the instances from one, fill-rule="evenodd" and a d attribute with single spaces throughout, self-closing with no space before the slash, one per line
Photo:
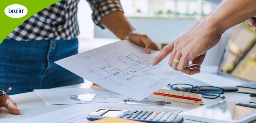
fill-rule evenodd
<path id="1" fill-rule="evenodd" d="M 163 111 L 180 113 L 183 110 L 166 109 L 158 107 L 150 107 L 144 105 L 131 105 L 122 103 L 94 103 L 79 104 L 68 108 L 60 109 L 50 113 L 45 113 L 35 117 L 16 121 L 13 123 L 86 123 L 88 114 L 96 109 L 116 109 L 116 110 L 147 110 L 147 111 Z"/>

